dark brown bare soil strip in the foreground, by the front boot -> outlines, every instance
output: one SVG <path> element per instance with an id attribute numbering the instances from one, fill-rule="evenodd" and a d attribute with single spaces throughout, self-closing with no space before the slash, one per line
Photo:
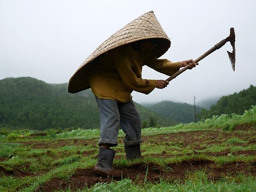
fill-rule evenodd
<path id="1" fill-rule="evenodd" d="M 148 169 L 147 177 L 146 172 Z M 195 172 L 197 170 L 203 170 L 206 174 L 206 178 L 211 181 L 217 181 L 223 175 L 237 175 L 243 172 L 245 175 L 251 174 L 256 176 L 256 164 L 248 164 L 245 162 L 233 162 L 224 164 L 221 167 L 217 167 L 214 162 L 206 161 L 202 159 L 193 161 L 183 161 L 180 163 L 168 164 L 164 171 L 156 164 L 135 164 L 133 166 L 124 168 L 124 171 L 132 181 L 141 183 L 145 178 L 147 181 L 158 182 L 160 178 L 169 180 L 184 181 L 187 178 L 187 172 Z M 72 175 L 69 180 L 51 179 L 45 184 L 39 186 L 38 191 L 52 191 L 52 190 L 65 190 L 69 188 L 71 191 L 82 189 L 87 185 L 88 188 L 96 183 L 109 183 L 110 181 L 119 181 L 120 179 L 112 179 L 110 177 L 101 177 L 93 172 L 93 168 L 77 170 L 76 174 Z"/>

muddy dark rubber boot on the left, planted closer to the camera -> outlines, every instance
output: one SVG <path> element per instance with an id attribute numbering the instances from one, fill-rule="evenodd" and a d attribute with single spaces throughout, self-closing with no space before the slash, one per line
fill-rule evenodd
<path id="1" fill-rule="evenodd" d="M 99 148 L 98 162 L 94 167 L 96 174 L 103 175 L 105 177 L 121 178 L 122 171 L 113 168 L 113 159 L 115 157 L 115 150 Z"/>

